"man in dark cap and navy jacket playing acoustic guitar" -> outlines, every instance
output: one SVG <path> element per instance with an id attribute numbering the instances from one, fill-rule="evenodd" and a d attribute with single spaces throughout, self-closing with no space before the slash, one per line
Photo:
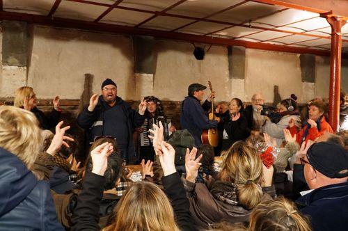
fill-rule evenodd
<path id="1" fill-rule="evenodd" d="M 203 105 L 200 102 L 203 100 L 204 91 L 207 87 L 200 83 L 192 83 L 188 89 L 188 96 L 182 102 L 180 123 L 182 129 L 187 129 L 195 140 L 195 146 L 202 145 L 200 136 L 203 129 L 216 128 L 220 118 L 216 117 L 214 120 L 208 120 L 205 116 L 205 111 L 208 111 L 211 106 L 214 92 L 209 95 Z M 214 112 L 214 111 L 213 111 Z"/>

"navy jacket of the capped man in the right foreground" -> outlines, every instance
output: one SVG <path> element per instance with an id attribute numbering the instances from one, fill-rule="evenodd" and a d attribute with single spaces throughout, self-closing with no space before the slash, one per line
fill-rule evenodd
<path id="1" fill-rule="evenodd" d="M 315 189 L 297 200 L 313 230 L 348 230 L 348 182 Z"/>

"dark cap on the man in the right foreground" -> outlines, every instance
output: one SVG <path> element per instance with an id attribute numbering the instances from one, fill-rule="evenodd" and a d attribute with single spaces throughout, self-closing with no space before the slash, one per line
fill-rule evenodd
<path id="1" fill-rule="evenodd" d="M 348 176 L 348 151 L 341 145 L 331 142 L 315 143 L 308 149 L 307 159 L 315 170 L 326 177 Z"/>

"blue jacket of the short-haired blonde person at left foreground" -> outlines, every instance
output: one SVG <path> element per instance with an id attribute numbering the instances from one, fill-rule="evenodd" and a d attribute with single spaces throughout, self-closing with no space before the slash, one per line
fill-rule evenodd
<path id="1" fill-rule="evenodd" d="M 49 182 L 36 180 L 14 154 L 0 148 L 0 230 L 64 230 Z"/>

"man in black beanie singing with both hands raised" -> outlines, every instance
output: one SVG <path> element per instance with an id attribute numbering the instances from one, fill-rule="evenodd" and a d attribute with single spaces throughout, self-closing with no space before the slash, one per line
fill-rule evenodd
<path id="1" fill-rule="evenodd" d="M 146 105 L 142 99 L 136 112 L 117 96 L 116 83 L 105 79 L 102 95 L 90 97 L 88 107 L 77 117 L 77 124 L 86 129 L 88 142 L 93 142 L 96 136 L 115 137 L 122 158 L 127 164 L 134 164 L 138 160 L 133 145 L 133 129 L 143 124 Z"/>

